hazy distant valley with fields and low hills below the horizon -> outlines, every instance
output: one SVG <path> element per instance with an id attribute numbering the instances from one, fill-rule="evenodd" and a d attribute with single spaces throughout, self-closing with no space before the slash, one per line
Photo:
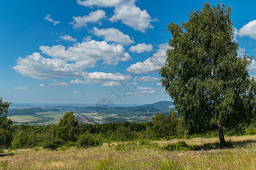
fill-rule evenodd
<path id="1" fill-rule="evenodd" d="M 65 112 L 73 111 L 82 123 L 102 124 L 106 122 L 148 122 L 157 112 L 167 115 L 174 108 L 172 101 L 158 101 L 135 107 L 55 105 L 10 109 L 7 116 L 14 124 L 57 124 Z"/>

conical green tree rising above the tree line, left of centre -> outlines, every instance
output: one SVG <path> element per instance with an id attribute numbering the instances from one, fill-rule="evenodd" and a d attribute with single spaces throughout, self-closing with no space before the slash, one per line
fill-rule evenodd
<path id="1" fill-rule="evenodd" d="M 63 139 L 65 142 L 77 141 L 78 138 L 78 120 L 76 120 L 73 112 L 67 112 L 63 118 L 60 119 L 57 131 L 57 137 Z"/>

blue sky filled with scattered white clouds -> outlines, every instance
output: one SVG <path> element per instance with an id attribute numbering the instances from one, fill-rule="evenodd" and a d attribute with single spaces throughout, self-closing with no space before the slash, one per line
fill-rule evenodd
<path id="1" fill-rule="evenodd" d="M 201 10 L 204 2 L 3 1 L 0 96 L 13 103 L 171 100 L 157 72 L 169 48 L 167 25 L 187 22 L 189 12 Z M 238 54 L 256 56 L 256 2 L 221 3 L 233 7 Z M 255 60 L 249 74 L 256 75 Z"/>

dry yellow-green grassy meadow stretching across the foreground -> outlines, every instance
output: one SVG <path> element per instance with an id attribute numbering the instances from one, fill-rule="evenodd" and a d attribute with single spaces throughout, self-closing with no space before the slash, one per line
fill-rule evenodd
<path id="1" fill-rule="evenodd" d="M 226 137 L 226 139 L 229 139 Z M 100 147 L 42 148 L 5 151 L 0 167 L 6 169 L 256 169 L 256 135 L 232 137 L 234 148 L 210 149 L 217 138 L 193 138 L 185 142 L 202 147 L 196 151 L 165 151 L 152 147 L 116 150 Z M 155 141 L 159 145 L 181 141 Z M 184 141 L 184 140 L 183 140 Z M 209 150 L 208 150 L 209 149 Z M 12 155 L 13 154 L 13 155 Z"/>

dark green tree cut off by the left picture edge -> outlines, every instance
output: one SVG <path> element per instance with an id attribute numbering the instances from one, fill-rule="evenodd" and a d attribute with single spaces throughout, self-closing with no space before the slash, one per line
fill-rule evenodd
<path id="1" fill-rule="evenodd" d="M 11 103 L 3 101 L 0 98 L 0 150 L 10 146 L 11 144 L 11 130 L 10 125 L 12 124 L 10 118 L 7 118 L 7 112 Z"/>

